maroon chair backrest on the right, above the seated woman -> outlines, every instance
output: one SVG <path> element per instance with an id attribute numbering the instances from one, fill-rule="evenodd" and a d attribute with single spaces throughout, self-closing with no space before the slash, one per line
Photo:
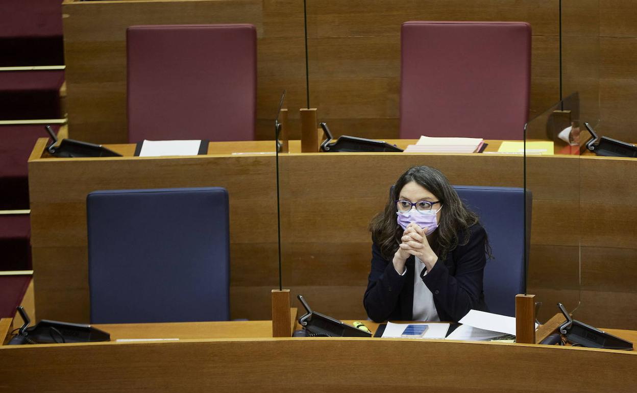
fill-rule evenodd
<path id="1" fill-rule="evenodd" d="M 527 23 L 405 22 L 400 137 L 522 139 L 530 80 Z"/>

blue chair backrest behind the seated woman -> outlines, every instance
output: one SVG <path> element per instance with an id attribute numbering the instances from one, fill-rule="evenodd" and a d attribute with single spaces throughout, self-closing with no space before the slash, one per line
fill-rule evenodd
<path id="1" fill-rule="evenodd" d="M 487 259 L 484 295 L 489 311 L 515 316 L 515 295 L 526 290 L 524 247 L 524 189 L 511 187 L 454 186 L 466 206 L 480 216 L 494 259 Z M 527 192 L 527 222 L 531 198 Z M 530 228 L 530 225 L 529 225 Z"/>

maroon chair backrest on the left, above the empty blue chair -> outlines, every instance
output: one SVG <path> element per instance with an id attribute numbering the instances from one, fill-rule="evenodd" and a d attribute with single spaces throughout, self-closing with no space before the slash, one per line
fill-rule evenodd
<path id="1" fill-rule="evenodd" d="M 254 139 L 253 25 L 147 25 L 127 30 L 128 139 Z"/>

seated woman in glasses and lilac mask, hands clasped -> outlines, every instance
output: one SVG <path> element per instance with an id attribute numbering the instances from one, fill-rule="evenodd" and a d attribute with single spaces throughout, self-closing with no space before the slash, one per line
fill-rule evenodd
<path id="1" fill-rule="evenodd" d="M 487 233 L 438 169 L 403 173 L 369 229 L 369 318 L 457 322 L 471 309 L 487 310 Z"/>

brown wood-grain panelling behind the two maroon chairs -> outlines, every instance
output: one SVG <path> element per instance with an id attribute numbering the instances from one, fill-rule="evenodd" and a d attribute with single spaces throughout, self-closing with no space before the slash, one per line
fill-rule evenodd
<path id="1" fill-rule="evenodd" d="M 579 92 L 582 117 L 599 131 L 633 140 L 637 104 L 637 20 L 630 0 L 308 1 L 308 68 L 303 4 L 287 0 L 64 2 L 71 136 L 125 141 L 124 31 L 134 24 L 246 22 L 257 26 L 257 138 L 271 139 L 282 89 L 288 90 L 290 138 L 300 136 L 297 108 L 310 104 L 335 136 L 396 138 L 399 124 L 401 23 L 406 20 L 522 20 L 533 27 L 529 117 Z M 99 26 L 99 28 L 96 28 Z M 560 75 L 561 72 L 561 75 Z M 560 87 L 560 77 L 562 89 Z"/>

